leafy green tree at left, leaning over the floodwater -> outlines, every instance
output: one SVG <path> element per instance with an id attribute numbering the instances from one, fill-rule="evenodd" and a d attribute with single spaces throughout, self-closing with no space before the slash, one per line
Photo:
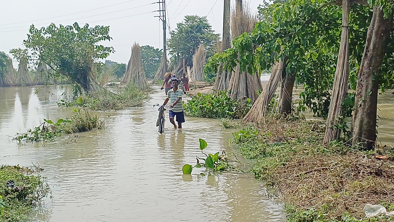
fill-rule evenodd
<path id="1" fill-rule="evenodd" d="M 101 87 L 96 81 L 99 59 L 104 59 L 114 52 L 113 47 L 100 45 L 102 41 L 110 41 L 109 26 L 80 27 L 56 26 L 35 28 L 30 26 L 28 38 L 23 45 L 28 49 L 29 57 L 45 62 L 51 69 L 68 76 L 85 92 L 95 92 Z M 17 55 L 14 55 L 17 57 Z"/>

